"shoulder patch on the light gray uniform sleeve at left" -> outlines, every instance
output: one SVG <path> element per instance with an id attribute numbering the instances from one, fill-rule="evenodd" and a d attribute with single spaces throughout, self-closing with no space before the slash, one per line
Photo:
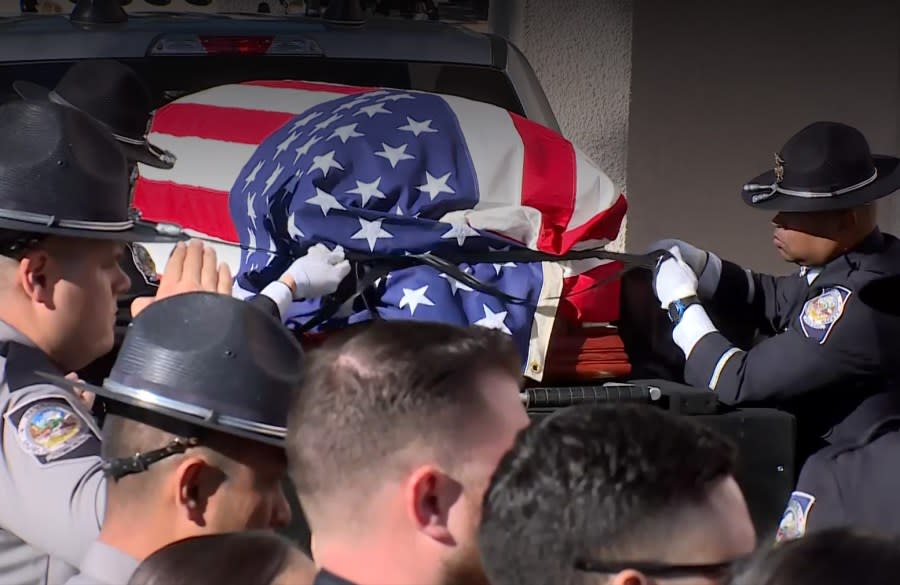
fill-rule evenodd
<path id="1" fill-rule="evenodd" d="M 41 465 L 100 455 L 100 438 L 64 398 L 28 402 L 6 418 L 22 450 Z"/>

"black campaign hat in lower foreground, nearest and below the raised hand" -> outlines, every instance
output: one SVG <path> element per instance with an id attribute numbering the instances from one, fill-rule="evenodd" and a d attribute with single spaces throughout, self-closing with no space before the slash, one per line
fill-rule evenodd
<path id="1" fill-rule="evenodd" d="M 227 295 L 187 293 L 135 318 L 102 386 L 41 375 L 138 412 L 282 446 L 302 357 L 290 332 L 263 309 Z"/>

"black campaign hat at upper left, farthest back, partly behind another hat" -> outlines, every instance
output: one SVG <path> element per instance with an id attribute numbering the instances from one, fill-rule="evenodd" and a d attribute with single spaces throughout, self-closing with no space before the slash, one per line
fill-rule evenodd
<path id="1" fill-rule="evenodd" d="M 49 100 L 88 114 L 112 132 L 130 161 L 161 169 L 175 164 L 171 153 L 147 142 L 152 97 L 141 78 L 123 63 L 80 61 L 52 90 L 29 81 L 16 81 L 13 89 L 26 100 Z"/>

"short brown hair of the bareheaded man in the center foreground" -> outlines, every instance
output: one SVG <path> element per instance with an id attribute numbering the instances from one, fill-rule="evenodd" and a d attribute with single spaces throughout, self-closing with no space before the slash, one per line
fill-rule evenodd
<path id="1" fill-rule="evenodd" d="M 365 493 L 406 471 L 408 447 L 439 458 L 464 452 L 460 438 L 484 411 L 477 381 L 488 371 L 519 381 L 521 358 L 509 336 L 474 326 L 378 321 L 311 351 L 286 447 L 304 509 L 319 494 Z"/>

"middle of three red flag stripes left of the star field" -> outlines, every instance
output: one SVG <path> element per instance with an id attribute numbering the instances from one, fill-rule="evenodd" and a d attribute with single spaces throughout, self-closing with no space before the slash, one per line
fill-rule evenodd
<path id="1" fill-rule="evenodd" d="M 151 131 L 256 145 L 293 117 L 284 112 L 171 103 L 156 113 Z"/>

